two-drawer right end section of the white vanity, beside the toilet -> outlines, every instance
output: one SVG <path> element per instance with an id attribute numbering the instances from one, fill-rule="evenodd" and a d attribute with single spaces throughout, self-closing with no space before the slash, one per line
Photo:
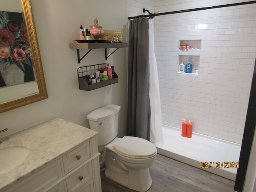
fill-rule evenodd
<path id="1" fill-rule="evenodd" d="M 94 139 L 94 138 L 93 138 Z M 96 146 L 98 148 L 97 141 Z M 82 146 L 62 157 L 66 186 L 68 192 L 98 192 L 101 191 L 98 150 L 91 153 L 92 142 L 86 142 Z M 94 143 L 95 144 L 95 143 Z M 95 145 L 94 145 L 95 146 Z M 99 180 L 99 181 L 98 181 Z"/>

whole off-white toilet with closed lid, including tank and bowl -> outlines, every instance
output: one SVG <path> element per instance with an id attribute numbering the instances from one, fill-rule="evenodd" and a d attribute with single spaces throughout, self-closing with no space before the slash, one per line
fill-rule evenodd
<path id="1" fill-rule="evenodd" d="M 132 190 L 145 192 L 152 184 L 148 168 L 156 158 L 156 146 L 138 137 L 116 137 L 119 111 L 120 106 L 111 104 L 87 115 L 90 129 L 99 133 L 98 146 L 106 149 L 105 176 Z"/>

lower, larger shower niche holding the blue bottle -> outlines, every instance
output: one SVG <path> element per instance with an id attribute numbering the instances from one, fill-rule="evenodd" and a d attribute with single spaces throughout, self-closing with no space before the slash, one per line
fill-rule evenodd
<path id="1" fill-rule="evenodd" d="M 190 60 L 192 63 L 192 73 L 179 72 L 180 64 L 183 63 L 184 67 L 186 68 L 186 64 L 188 63 L 188 60 Z M 199 55 L 178 55 L 178 73 L 198 75 L 199 61 L 200 61 Z"/>

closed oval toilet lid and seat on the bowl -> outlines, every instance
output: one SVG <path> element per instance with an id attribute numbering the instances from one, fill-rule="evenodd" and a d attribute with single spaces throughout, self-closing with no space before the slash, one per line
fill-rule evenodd
<path id="1" fill-rule="evenodd" d="M 151 142 L 138 138 L 125 136 L 114 144 L 116 151 L 130 158 L 150 158 L 156 154 L 156 146 Z"/>

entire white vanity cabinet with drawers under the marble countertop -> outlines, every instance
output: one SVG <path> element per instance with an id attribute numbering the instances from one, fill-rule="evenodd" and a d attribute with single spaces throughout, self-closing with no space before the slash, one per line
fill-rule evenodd
<path id="1" fill-rule="evenodd" d="M 97 132 L 89 135 L 79 144 L 65 146 L 70 149 L 0 192 L 101 192 Z"/>

